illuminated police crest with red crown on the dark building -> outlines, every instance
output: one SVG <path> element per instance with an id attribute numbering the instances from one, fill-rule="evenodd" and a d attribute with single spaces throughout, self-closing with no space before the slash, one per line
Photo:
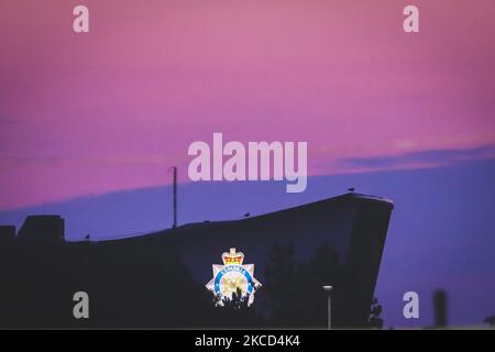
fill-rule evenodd
<path id="1" fill-rule="evenodd" d="M 219 305 L 222 299 L 232 298 L 232 294 L 238 290 L 241 295 L 249 297 L 248 306 L 254 300 L 254 293 L 261 287 L 257 279 L 254 278 L 254 264 L 243 264 L 244 254 L 230 249 L 230 252 L 222 254 L 223 265 L 213 264 L 213 278 L 206 287 L 218 297 Z"/>

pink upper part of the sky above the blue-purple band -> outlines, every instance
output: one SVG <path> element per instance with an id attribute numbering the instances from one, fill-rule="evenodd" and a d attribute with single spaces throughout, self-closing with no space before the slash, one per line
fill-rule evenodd
<path id="1" fill-rule="evenodd" d="M 311 175 L 491 145 L 494 23 L 493 0 L 3 0 L 0 209 L 187 180 L 213 132 L 307 141 Z"/>

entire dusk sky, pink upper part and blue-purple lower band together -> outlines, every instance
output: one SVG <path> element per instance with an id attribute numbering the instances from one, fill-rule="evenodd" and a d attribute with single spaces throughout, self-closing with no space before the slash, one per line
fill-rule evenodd
<path id="1" fill-rule="evenodd" d="M 72 31 L 81 3 L 89 34 Z M 410 3 L 420 34 L 402 29 Z M 188 184 L 184 204 L 183 204 L 180 221 L 348 186 L 389 197 L 386 320 L 431 323 L 404 321 L 400 295 L 428 306 L 443 287 L 454 322 L 480 322 L 495 314 L 494 23 L 493 0 L 2 0 L 0 223 L 62 213 L 73 239 L 164 228 L 169 194 L 142 188 L 172 165 L 187 183 L 191 142 L 307 141 L 305 194 Z"/>

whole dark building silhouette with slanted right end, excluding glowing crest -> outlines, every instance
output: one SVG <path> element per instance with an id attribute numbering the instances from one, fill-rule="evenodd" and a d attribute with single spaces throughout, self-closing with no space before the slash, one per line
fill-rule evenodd
<path id="1" fill-rule="evenodd" d="M 53 241 L 62 218 L 29 217 L 19 239 L 0 245 L 0 328 L 324 328 L 322 285 L 334 287 L 334 327 L 366 327 L 392 209 L 351 193 L 237 221 L 73 243 Z M 231 248 L 263 284 L 253 307 L 233 315 L 213 308 L 205 287 Z M 89 320 L 73 317 L 79 290 L 90 297 Z"/>

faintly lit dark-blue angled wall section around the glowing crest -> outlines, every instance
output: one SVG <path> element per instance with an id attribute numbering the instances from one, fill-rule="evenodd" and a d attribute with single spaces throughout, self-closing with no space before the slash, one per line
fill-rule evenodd
<path id="1" fill-rule="evenodd" d="M 248 263 L 256 264 L 255 275 L 263 288 L 270 285 L 264 267 L 274 246 L 294 248 L 296 263 L 310 261 L 319 248 L 328 246 L 341 266 L 340 282 L 314 285 L 318 289 L 326 284 L 336 286 L 336 324 L 364 327 L 392 208 L 392 202 L 381 198 L 346 194 L 243 220 L 184 226 L 169 235 L 196 282 L 206 284 L 211 264 L 221 263 L 220 254 L 235 248 L 245 254 Z M 263 288 L 256 297 L 261 305 Z"/>

